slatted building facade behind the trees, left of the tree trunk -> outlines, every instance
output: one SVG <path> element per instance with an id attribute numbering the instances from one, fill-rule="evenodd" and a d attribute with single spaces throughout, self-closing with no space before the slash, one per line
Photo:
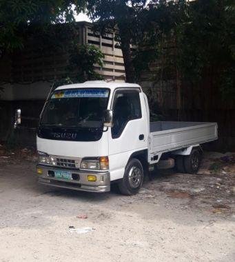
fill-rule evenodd
<path id="1" fill-rule="evenodd" d="M 115 41 L 116 32 L 95 34 L 92 24 L 88 22 L 76 23 L 76 31 L 80 44 L 96 46 L 104 55 L 103 67 L 95 64 L 95 71 L 103 79 L 125 81 L 123 55 L 119 43 Z M 0 59 L 1 100 L 45 99 L 52 83 L 65 74 L 68 55 L 66 48 L 59 52 L 46 52 L 35 46 L 34 42 L 28 42 L 23 50 Z"/>

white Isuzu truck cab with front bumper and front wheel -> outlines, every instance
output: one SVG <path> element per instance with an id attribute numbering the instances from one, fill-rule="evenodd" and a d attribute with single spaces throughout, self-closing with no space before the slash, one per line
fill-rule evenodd
<path id="1" fill-rule="evenodd" d="M 147 161 L 149 109 L 141 87 L 88 81 L 63 85 L 45 103 L 37 132 L 39 183 L 92 192 L 138 192 Z M 128 181 L 127 163 L 136 156 Z M 124 187 L 124 188 L 123 188 Z"/>

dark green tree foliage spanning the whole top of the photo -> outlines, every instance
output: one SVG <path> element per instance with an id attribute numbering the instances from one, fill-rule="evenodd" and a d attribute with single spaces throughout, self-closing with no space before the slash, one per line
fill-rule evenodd
<path id="1" fill-rule="evenodd" d="M 92 62 L 101 61 L 99 51 L 88 46 L 78 48 L 72 40 L 77 34 L 72 24 L 63 24 L 64 33 L 59 33 L 59 27 L 51 30 L 51 24 L 74 21 L 74 4 L 76 12 L 86 8 L 96 30 L 103 34 L 105 30 L 119 29 L 116 40 L 123 51 L 127 81 L 136 81 L 152 61 L 158 61 L 154 77 L 167 80 L 169 72 L 177 70 L 182 80 L 193 85 L 210 77 L 224 99 L 234 99 L 234 1 L 152 0 L 147 8 L 146 2 L 1 0 L 0 51 L 23 48 L 26 36 L 37 35 L 39 47 L 46 43 L 48 49 L 70 49 L 70 70 L 77 69 L 77 81 L 99 78 L 91 66 Z M 69 46 L 61 44 L 66 38 Z M 134 52 L 131 44 L 136 46 Z M 78 69 L 81 65 L 83 72 Z"/>

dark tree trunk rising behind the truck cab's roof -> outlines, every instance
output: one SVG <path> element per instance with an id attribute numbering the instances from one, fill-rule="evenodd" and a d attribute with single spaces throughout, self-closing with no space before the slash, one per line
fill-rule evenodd
<path id="1" fill-rule="evenodd" d="M 134 65 L 132 61 L 132 50 L 130 48 L 131 39 L 123 25 L 119 25 L 119 35 L 121 40 L 121 50 L 123 52 L 123 60 L 125 66 L 125 81 L 127 83 L 135 83 L 136 77 Z"/>

